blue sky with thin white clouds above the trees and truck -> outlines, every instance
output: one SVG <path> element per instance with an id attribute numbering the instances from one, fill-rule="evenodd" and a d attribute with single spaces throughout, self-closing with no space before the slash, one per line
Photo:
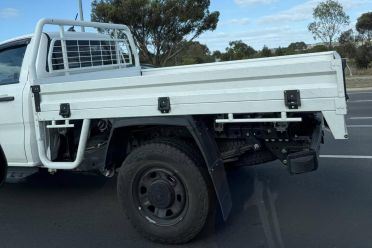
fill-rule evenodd
<path id="1" fill-rule="evenodd" d="M 286 47 L 291 42 L 317 43 L 307 30 L 312 10 L 320 0 L 211 0 L 211 11 L 220 12 L 218 27 L 198 40 L 211 51 L 224 51 L 229 41 L 243 40 L 261 49 L 264 45 Z M 357 18 L 372 11 L 372 0 L 339 0 L 350 16 L 350 28 Z M 91 0 L 83 0 L 84 17 L 90 19 Z M 78 0 L 0 0 L 0 41 L 32 33 L 43 18 L 73 19 Z M 347 27 L 349 28 L 349 27 Z"/>

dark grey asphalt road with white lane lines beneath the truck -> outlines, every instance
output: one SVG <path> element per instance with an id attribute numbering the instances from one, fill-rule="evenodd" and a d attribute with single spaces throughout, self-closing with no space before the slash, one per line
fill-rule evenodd
<path id="1" fill-rule="evenodd" d="M 184 247 L 372 247 L 372 92 L 350 97 L 350 140 L 327 133 L 322 146 L 333 158 L 298 176 L 277 162 L 229 172 L 232 215 Z M 6 184 L 0 247 L 163 247 L 132 229 L 115 183 L 60 173 Z"/>

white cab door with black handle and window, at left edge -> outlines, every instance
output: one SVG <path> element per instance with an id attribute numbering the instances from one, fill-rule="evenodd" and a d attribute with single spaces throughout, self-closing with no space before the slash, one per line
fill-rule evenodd
<path id="1" fill-rule="evenodd" d="M 27 163 L 20 82 L 22 62 L 29 39 L 0 45 L 0 145 L 9 166 Z"/>

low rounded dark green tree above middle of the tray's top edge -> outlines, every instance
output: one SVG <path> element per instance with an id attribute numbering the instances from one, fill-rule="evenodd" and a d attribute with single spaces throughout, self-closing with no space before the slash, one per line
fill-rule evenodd
<path id="1" fill-rule="evenodd" d="M 222 60 L 247 59 L 256 53 L 256 50 L 241 40 L 231 41 L 226 48 L 226 53 L 222 55 Z"/>

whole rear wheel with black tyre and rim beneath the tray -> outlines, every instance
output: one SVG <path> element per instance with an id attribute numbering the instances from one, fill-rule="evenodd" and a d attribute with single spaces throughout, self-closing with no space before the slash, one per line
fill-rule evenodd
<path id="1" fill-rule="evenodd" d="M 203 161 L 191 145 L 143 145 L 124 161 L 118 197 L 132 225 L 146 238 L 185 243 L 203 228 L 211 207 L 211 187 Z"/>

